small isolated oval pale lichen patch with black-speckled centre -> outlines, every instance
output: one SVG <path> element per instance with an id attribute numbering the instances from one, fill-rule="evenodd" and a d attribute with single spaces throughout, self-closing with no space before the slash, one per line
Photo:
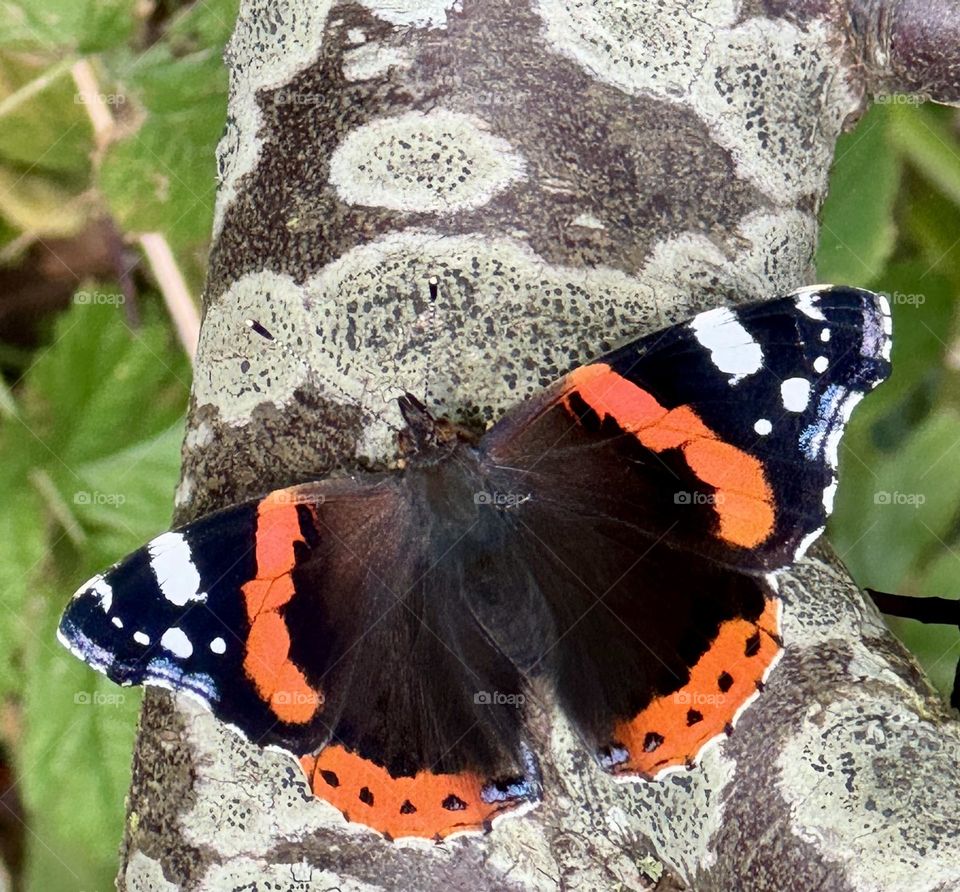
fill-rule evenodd
<path id="1" fill-rule="evenodd" d="M 480 118 L 436 109 L 351 132 L 330 158 L 330 182 L 347 204 L 452 213 L 485 205 L 525 168 Z"/>

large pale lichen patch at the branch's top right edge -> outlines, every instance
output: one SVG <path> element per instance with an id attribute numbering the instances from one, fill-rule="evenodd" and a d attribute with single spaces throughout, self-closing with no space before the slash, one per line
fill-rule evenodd
<path id="1" fill-rule="evenodd" d="M 733 0 L 539 0 L 538 8 L 556 52 L 626 93 L 683 102 L 740 176 L 777 204 L 822 191 L 837 134 L 858 105 L 831 26 L 737 23 Z M 813 129 L 812 102 L 823 110 Z"/>

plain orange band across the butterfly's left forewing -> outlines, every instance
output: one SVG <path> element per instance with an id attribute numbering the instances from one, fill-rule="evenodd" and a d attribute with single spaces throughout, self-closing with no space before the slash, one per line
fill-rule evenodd
<path id="1" fill-rule="evenodd" d="M 289 491 L 271 493 L 257 507 L 257 576 L 243 585 L 250 632 L 243 669 L 278 719 L 303 724 L 323 704 L 290 660 L 290 632 L 280 615 L 294 594 L 294 543 L 302 542 L 297 502 Z"/>

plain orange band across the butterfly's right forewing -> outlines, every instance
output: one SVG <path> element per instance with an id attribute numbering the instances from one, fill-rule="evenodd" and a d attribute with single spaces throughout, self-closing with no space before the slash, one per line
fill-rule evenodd
<path id="1" fill-rule="evenodd" d="M 571 414 L 570 395 L 575 392 L 601 419 L 613 419 L 648 449 L 681 450 L 690 470 L 715 490 L 721 539 L 753 548 L 773 532 L 773 494 L 763 465 L 717 437 L 689 406 L 661 406 L 605 363 L 581 366 L 567 381 L 564 404 Z"/>

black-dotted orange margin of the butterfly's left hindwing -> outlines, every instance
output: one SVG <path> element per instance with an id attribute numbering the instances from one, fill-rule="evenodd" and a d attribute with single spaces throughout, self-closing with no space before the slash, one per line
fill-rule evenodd
<path id="1" fill-rule="evenodd" d="M 486 781 L 477 774 L 433 774 L 393 777 L 385 768 L 342 746 L 325 747 L 300 764 L 314 794 L 340 809 L 348 821 L 373 827 L 393 839 L 433 839 L 467 830 L 489 829 L 497 815 L 526 800 L 484 802 Z"/>

